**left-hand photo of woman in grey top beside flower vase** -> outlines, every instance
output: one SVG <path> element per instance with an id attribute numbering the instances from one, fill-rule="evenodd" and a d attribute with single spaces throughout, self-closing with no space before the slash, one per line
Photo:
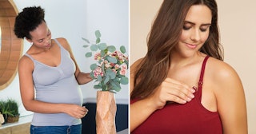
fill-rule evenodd
<path id="1" fill-rule="evenodd" d="M 129 0 L 1 0 L 0 133 L 129 133 L 129 51 Z"/>

